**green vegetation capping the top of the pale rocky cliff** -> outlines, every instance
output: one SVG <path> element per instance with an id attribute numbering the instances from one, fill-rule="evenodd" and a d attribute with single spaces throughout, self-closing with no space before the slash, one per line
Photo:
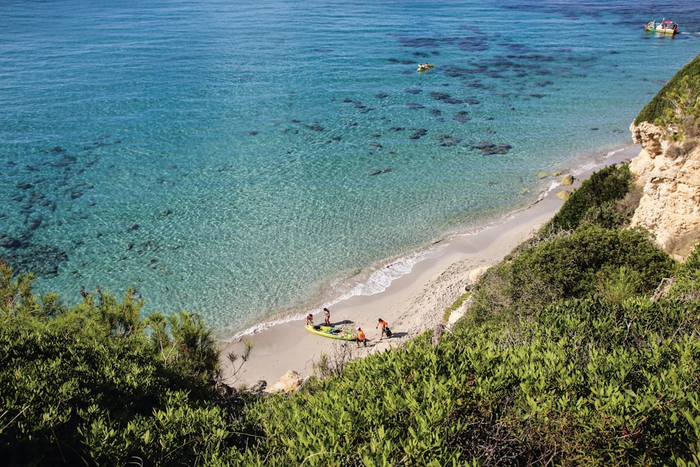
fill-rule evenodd
<path id="1" fill-rule="evenodd" d="M 673 139 L 700 136 L 700 55 L 680 69 L 634 120 L 672 127 Z"/>

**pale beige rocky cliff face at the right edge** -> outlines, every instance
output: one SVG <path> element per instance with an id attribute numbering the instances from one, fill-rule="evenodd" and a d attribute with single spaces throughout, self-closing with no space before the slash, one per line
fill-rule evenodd
<path id="1" fill-rule="evenodd" d="M 630 169 L 643 188 L 631 224 L 650 230 L 661 248 L 682 259 L 700 239 L 700 144 L 675 143 L 647 122 L 630 130 L 642 146 Z"/>

